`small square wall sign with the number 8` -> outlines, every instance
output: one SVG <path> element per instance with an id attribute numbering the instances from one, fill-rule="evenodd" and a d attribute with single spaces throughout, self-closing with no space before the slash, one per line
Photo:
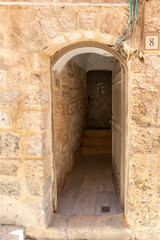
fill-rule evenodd
<path id="1" fill-rule="evenodd" d="M 158 50 L 159 49 L 159 36 L 158 35 L 145 35 L 144 41 L 144 49 L 145 50 Z"/>

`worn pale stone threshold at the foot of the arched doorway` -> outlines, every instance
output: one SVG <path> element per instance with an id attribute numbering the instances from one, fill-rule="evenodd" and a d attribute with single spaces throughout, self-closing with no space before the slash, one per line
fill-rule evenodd
<path id="1" fill-rule="evenodd" d="M 54 214 L 46 229 L 26 229 L 25 235 L 52 240 L 131 240 L 123 214 L 63 216 Z"/>

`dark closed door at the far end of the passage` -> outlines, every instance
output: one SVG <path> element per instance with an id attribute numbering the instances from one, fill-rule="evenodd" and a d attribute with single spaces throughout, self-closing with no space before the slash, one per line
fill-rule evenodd
<path id="1" fill-rule="evenodd" d="M 87 73 L 87 127 L 110 129 L 112 117 L 112 87 L 110 71 Z"/>

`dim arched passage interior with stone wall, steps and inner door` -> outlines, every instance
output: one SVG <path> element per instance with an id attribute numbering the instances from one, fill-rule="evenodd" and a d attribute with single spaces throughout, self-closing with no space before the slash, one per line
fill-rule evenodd
<path id="1" fill-rule="evenodd" d="M 58 213 L 120 213 L 120 63 L 91 49 L 57 62 L 52 93 Z"/>

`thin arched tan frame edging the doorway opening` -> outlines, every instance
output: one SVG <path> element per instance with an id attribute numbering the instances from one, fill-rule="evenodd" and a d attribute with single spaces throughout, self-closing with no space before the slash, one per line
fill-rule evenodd
<path id="1" fill-rule="evenodd" d="M 128 179 L 128 66 L 126 63 L 126 60 L 120 55 L 120 53 L 116 52 L 116 50 L 108 46 L 104 43 L 99 43 L 99 42 L 93 42 L 93 41 L 82 41 L 82 42 L 77 42 L 73 44 L 69 44 L 66 47 L 63 47 L 62 49 L 58 50 L 53 56 L 50 58 L 50 69 L 51 69 L 51 119 L 52 119 L 52 163 L 53 163 L 53 175 L 54 175 L 54 180 L 53 180 L 53 191 L 52 191 L 52 196 L 53 196 L 53 207 L 54 210 L 57 210 L 57 182 L 56 182 L 56 176 L 57 176 L 57 170 L 56 170 L 56 162 L 54 158 L 54 134 L 53 134 L 53 90 L 52 90 L 52 67 L 54 64 L 67 52 L 70 52 L 71 50 L 77 49 L 77 48 L 85 48 L 85 47 L 93 47 L 93 48 L 99 48 L 103 49 L 105 51 L 108 51 L 111 53 L 119 62 L 121 66 L 121 77 L 124 79 L 122 88 L 123 88 L 123 96 L 122 96 L 122 91 L 121 91 L 121 99 L 123 99 L 123 104 L 125 106 L 125 111 L 124 111 L 124 121 L 122 122 L 122 134 L 121 134 L 121 159 L 123 159 L 123 164 L 121 164 L 121 171 L 123 172 L 121 178 L 121 186 L 122 188 L 122 194 L 120 198 L 122 199 L 123 202 L 123 208 L 125 212 L 125 206 L 126 206 L 126 189 L 127 189 L 127 179 Z M 124 76 L 125 75 L 125 76 Z M 124 76 L 124 78 L 123 78 Z M 121 104 L 122 106 L 122 104 Z"/>

